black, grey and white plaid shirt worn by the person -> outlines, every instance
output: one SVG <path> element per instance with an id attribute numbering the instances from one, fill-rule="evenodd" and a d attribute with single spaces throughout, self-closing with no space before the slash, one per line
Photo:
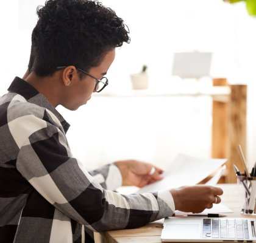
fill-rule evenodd
<path id="1" fill-rule="evenodd" d="M 93 231 L 136 228 L 171 215 L 169 191 L 122 195 L 115 165 L 87 172 L 69 124 L 16 77 L 0 98 L 0 242 L 93 242 Z"/>

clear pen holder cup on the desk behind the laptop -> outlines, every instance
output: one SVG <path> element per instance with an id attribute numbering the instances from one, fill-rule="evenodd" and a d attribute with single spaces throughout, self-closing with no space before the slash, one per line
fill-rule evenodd
<path id="1" fill-rule="evenodd" d="M 241 214 L 256 215 L 256 177 L 246 177 L 244 174 L 236 177 Z"/>

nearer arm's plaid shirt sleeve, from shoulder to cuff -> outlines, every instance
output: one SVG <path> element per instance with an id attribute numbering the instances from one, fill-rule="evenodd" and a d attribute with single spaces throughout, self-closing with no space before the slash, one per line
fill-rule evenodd
<path id="1" fill-rule="evenodd" d="M 65 134 L 54 122 L 57 118 L 45 112 L 43 119 L 27 115 L 12 125 L 20 148 L 16 168 L 50 204 L 98 232 L 141 227 L 174 213 L 169 191 L 122 195 L 102 188 L 95 175 L 73 157 Z M 115 170 L 113 165 L 110 168 Z M 106 185 L 114 188 L 111 183 Z"/>

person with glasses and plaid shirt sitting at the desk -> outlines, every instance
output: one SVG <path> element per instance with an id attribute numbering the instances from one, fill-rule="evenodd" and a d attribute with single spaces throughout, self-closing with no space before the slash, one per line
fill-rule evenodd
<path id="1" fill-rule="evenodd" d="M 93 242 L 93 231 L 141 227 L 175 210 L 197 213 L 219 203 L 215 187 L 113 192 L 122 182 L 143 187 L 162 179 L 148 163 L 84 169 L 55 108 L 74 111 L 108 85 L 104 75 L 129 32 L 97 1 L 49 0 L 37 13 L 29 69 L 0 99 L 0 242 Z"/>

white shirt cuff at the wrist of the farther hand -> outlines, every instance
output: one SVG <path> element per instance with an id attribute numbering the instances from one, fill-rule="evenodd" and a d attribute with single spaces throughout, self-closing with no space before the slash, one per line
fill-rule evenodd
<path id="1" fill-rule="evenodd" d="M 109 166 L 107 179 L 105 180 L 107 190 L 115 191 L 123 184 L 123 177 L 118 166 L 113 163 Z"/>

